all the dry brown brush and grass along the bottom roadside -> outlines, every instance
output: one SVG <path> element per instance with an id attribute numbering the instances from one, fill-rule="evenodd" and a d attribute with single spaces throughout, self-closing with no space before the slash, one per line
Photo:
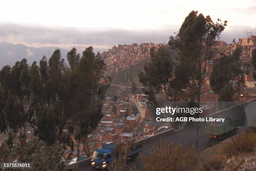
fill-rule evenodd
<path id="1" fill-rule="evenodd" d="M 145 171 L 234 171 L 238 170 L 246 153 L 256 154 L 256 128 L 229 138 L 199 153 L 194 146 L 160 143 L 149 154 L 141 156 Z M 125 149 L 124 149 L 125 153 Z M 227 162 L 228 161 L 228 162 Z M 111 170 L 125 170 L 123 159 L 115 159 Z M 130 167 L 136 170 L 136 167 Z"/>

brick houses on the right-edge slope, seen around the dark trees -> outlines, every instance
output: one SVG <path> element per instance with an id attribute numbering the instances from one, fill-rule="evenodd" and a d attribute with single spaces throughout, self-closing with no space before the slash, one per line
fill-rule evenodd
<path id="1" fill-rule="evenodd" d="M 224 41 L 216 41 L 214 46 L 215 48 L 223 48 L 225 50 L 225 55 L 232 55 L 237 48 L 241 48 L 242 53 L 240 56 L 240 62 L 242 64 L 241 69 L 245 72 L 243 74 L 245 85 L 243 85 L 241 88 L 242 95 L 241 99 L 239 100 L 246 101 L 255 97 L 255 95 L 253 93 L 250 93 L 249 91 L 255 89 L 254 83 L 256 83 L 253 78 L 253 68 L 251 66 L 252 52 L 253 49 L 256 48 L 256 36 L 251 35 L 248 38 L 239 38 L 238 42 L 234 41 L 232 44 L 229 45 L 227 45 L 227 43 L 225 43 Z M 207 62 L 207 73 L 209 74 L 212 72 L 212 67 L 214 64 L 213 61 L 214 60 Z M 234 84 L 233 86 L 236 87 L 236 85 Z M 216 106 L 217 95 L 210 88 L 209 77 L 205 79 L 205 82 L 202 85 L 200 100 L 202 104 L 205 104 L 207 106 Z M 236 99 L 236 101 L 237 100 L 238 99 Z"/>

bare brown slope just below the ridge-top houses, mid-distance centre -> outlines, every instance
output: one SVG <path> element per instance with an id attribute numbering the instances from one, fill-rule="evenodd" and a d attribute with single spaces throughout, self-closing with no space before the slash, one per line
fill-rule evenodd
<path id="1" fill-rule="evenodd" d="M 142 86 L 142 84 L 139 82 L 138 73 L 140 70 L 143 70 L 143 66 L 146 63 L 149 63 L 150 60 L 151 58 L 146 58 L 145 60 L 142 60 L 139 63 L 131 65 L 128 68 L 125 68 L 120 73 L 115 74 L 114 76 L 112 76 L 111 84 L 129 86 L 134 81 L 138 86 Z"/>

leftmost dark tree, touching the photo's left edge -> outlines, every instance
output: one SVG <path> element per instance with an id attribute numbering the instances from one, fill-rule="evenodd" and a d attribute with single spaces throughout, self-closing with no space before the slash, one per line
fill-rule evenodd
<path id="1" fill-rule="evenodd" d="M 31 76 L 27 60 L 24 58 L 16 62 L 13 68 L 5 66 L 0 71 L 0 85 L 3 90 L 2 108 L 8 126 L 17 132 L 24 127 L 24 123 L 33 115 L 29 82 Z M 5 127 L 7 128 L 7 127 Z"/>

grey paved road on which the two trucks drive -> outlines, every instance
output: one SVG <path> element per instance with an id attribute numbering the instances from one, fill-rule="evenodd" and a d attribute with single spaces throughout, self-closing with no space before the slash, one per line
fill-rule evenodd
<path id="1" fill-rule="evenodd" d="M 246 113 L 246 118 L 244 119 L 244 122 L 250 121 L 252 118 L 256 118 L 256 99 L 253 99 L 250 102 L 243 103 L 243 106 L 238 105 L 232 108 L 228 108 L 226 110 L 220 111 L 218 113 L 214 113 L 211 116 L 225 116 L 227 113 L 236 113 L 239 115 L 244 115 Z M 243 110 L 243 107 L 245 110 Z M 241 121 L 242 122 L 242 121 Z M 244 131 L 246 127 L 240 127 L 238 130 L 238 133 Z M 163 142 L 174 142 L 174 143 L 185 143 L 196 146 L 196 140 L 197 140 L 197 123 L 194 123 L 193 125 L 187 126 L 186 128 L 183 128 L 179 131 L 175 131 L 175 133 L 171 136 L 166 136 L 161 138 Z M 198 150 L 204 150 L 205 148 L 208 148 L 216 143 L 219 143 L 220 140 L 212 140 L 204 133 L 204 127 L 199 126 L 199 135 L 198 135 Z M 156 139 L 154 141 L 151 141 L 150 143 L 143 144 L 143 150 L 139 154 L 139 156 L 136 158 L 135 161 L 128 161 L 128 165 L 131 165 L 133 163 L 136 164 L 138 168 L 143 168 L 143 162 L 141 160 L 141 154 L 146 154 L 150 152 L 151 146 L 157 146 L 160 143 L 160 139 Z M 88 166 L 86 168 L 82 168 L 83 171 L 93 171 L 91 166 Z"/>

